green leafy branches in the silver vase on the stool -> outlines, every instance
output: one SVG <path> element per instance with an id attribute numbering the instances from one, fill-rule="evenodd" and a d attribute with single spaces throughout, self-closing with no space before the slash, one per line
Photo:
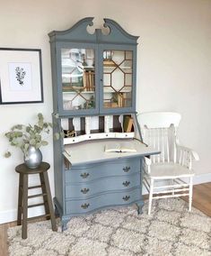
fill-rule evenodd
<path id="1" fill-rule="evenodd" d="M 10 145 L 20 148 L 25 154 L 30 146 L 34 146 L 39 149 L 41 146 L 47 146 L 48 142 L 42 137 L 44 133 L 50 133 L 52 129 L 52 123 L 44 122 L 43 114 L 38 114 L 37 123 L 31 125 L 16 124 L 14 125 L 10 132 L 4 135 L 8 139 Z M 7 151 L 4 154 L 5 158 L 9 158 L 11 152 Z"/>

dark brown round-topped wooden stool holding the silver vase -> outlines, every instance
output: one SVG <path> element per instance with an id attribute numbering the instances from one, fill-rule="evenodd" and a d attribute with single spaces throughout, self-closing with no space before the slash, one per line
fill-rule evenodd
<path id="1" fill-rule="evenodd" d="M 40 166 L 36 169 L 28 168 L 24 163 L 18 165 L 15 171 L 20 174 L 19 177 L 19 194 L 18 194 L 18 217 L 17 224 L 22 224 L 22 239 L 27 238 L 27 221 L 47 217 L 51 220 L 52 230 L 57 231 L 57 224 L 54 215 L 54 209 L 52 204 L 52 198 L 50 193 L 49 181 L 48 181 L 48 169 L 50 165 L 47 162 L 42 162 Z M 40 185 L 28 187 L 28 175 L 30 174 L 40 174 Z M 28 196 L 28 189 L 41 187 L 42 193 L 32 196 Z M 43 197 L 43 203 L 28 206 L 28 198 Z M 28 218 L 28 208 L 35 206 L 44 206 L 45 215 L 39 215 L 35 217 Z"/>

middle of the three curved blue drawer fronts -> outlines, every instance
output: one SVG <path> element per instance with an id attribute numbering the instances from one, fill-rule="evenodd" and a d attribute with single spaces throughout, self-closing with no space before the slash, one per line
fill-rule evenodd
<path id="1" fill-rule="evenodd" d="M 66 199 L 86 198 L 109 190 L 124 190 L 140 186 L 140 173 L 129 176 L 101 178 L 84 183 L 66 183 Z"/>

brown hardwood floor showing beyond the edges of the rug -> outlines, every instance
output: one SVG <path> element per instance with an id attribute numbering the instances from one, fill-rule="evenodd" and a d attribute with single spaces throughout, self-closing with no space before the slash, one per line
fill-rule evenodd
<path id="1" fill-rule="evenodd" d="M 211 217 L 211 182 L 193 187 L 193 206 Z M 0 224 L 0 256 L 8 256 L 7 228 L 14 225 L 16 222 Z"/>

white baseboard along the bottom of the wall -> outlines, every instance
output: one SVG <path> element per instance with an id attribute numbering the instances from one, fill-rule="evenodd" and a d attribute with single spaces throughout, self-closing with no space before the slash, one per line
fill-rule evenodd
<path id="1" fill-rule="evenodd" d="M 194 177 L 194 185 L 211 182 L 211 173 L 196 175 Z M 143 187 L 143 195 L 148 194 L 145 187 Z M 44 215 L 44 208 L 42 206 L 29 209 L 29 217 L 37 215 Z M 0 212 L 0 224 L 10 223 L 17 220 L 17 209 Z"/>

